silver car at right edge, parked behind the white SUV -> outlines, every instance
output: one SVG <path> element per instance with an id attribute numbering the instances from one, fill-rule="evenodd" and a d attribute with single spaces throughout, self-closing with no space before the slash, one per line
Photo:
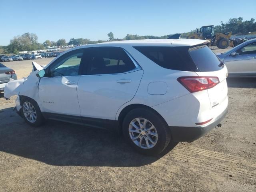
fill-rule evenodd
<path id="1" fill-rule="evenodd" d="M 225 63 L 229 76 L 256 76 L 256 39 L 217 56 Z"/>

